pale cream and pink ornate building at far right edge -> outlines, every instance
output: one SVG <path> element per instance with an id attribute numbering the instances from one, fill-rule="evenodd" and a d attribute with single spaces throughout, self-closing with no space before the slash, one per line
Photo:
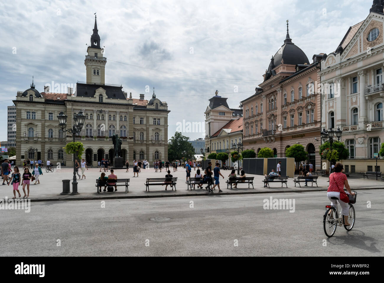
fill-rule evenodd
<path id="1" fill-rule="evenodd" d="M 321 126 L 343 131 L 347 173 L 376 171 L 374 154 L 384 142 L 383 8 L 382 1 L 373 1 L 367 18 L 350 27 L 336 51 L 321 61 L 319 75 L 327 90 Z M 377 165 L 381 171 L 382 161 Z"/>

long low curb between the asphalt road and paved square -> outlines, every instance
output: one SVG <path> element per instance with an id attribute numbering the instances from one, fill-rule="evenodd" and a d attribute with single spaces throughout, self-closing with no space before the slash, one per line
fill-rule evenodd
<path id="1" fill-rule="evenodd" d="M 384 188 L 354 188 L 353 190 L 376 190 Z M 276 190 L 276 191 L 243 191 L 243 192 L 223 192 L 223 193 L 180 193 L 180 194 L 144 194 L 134 196 L 84 196 L 84 197 L 65 197 L 65 198 L 36 198 L 30 199 L 31 202 L 35 201 L 84 201 L 84 200 L 97 200 L 97 199 L 135 199 L 135 198 L 169 198 L 169 197 L 180 197 L 180 196 L 217 196 L 217 195 L 231 195 L 231 194 L 272 194 L 272 193 L 307 193 L 307 192 L 319 192 L 327 191 L 328 188 L 324 189 L 302 189 L 302 190 Z"/>

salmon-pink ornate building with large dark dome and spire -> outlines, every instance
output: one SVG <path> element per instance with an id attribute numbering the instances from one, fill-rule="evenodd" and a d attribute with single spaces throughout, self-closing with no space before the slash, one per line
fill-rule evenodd
<path id="1" fill-rule="evenodd" d="M 273 150 L 274 157 L 286 157 L 285 150 L 301 144 L 308 151 L 308 161 L 320 166 L 320 94 L 319 61 L 314 55 L 310 63 L 305 53 L 288 33 L 284 44 L 271 58 L 264 80 L 254 95 L 241 101 L 243 105 L 244 149 L 259 152 Z"/>

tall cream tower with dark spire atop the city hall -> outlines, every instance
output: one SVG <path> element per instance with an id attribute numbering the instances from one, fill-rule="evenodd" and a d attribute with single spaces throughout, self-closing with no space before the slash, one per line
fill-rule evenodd
<path id="1" fill-rule="evenodd" d="M 107 58 L 103 57 L 103 51 L 104 49 L 100 47 L 100 36 L 95 15 L 91 45 L 87 48 L 88 55 L 85 56 L 84 60 L 87 71 L 87 84 L 105 84 L 105 64 L 107 63 Z"/>

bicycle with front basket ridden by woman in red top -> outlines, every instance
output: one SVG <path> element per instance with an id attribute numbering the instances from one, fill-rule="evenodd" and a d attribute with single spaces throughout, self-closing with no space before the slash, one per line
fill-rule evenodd
<path id="1" fill-rule="evenodd" d="M 356 191 L 353 191 L 355 195 L 357 195 Z M 323 220 L 323 226 L 324 226 L 324 233 L 327 235 L 328 238 L 332 237 L 334 233 L 336 232 L 337 226 L 344 225 L 344 216 L 340 213 L 338 214 L 338 207 L 337 207 L 337 200 L 336 197 L 331 197 L 331 199 L 334 199 L 336 201 L 336 205 L 326 205 L 326 211 L 324 214 L 324 220 Z M 334 218 L 336 216 L 336 219 Z M 349 216 L 348 216 L 348 222 L 349 226 L 345 226 L 344 228 L 347 231 L 351 231 L 353 228 L 353 225 L 355 224 L 355 209 L 352 205 L 352 203 L 349 203 Z"/>

